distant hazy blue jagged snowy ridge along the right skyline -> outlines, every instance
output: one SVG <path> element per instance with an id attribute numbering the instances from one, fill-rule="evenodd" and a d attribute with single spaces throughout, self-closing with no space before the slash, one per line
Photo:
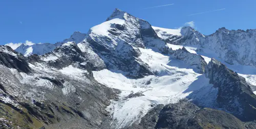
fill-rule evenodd
<path id="1" fill-rule="evenodd" d="M 220 57 L 230 64 L 256 66 L 255 47 L 256 30 L 227 30 L 220 28 L 211 35 L 203 35 L 191 27 L 175 30 L 179 33 L 155 28 L 159 37 L 164 41 L 183 46 L 194 46 L 200 52 L 209 53 L 211 56 Z"/>

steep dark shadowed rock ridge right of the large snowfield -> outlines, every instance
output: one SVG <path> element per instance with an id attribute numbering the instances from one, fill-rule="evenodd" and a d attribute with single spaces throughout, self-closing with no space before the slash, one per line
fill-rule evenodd
<path id="1" fill-rule="evenodd" d="M 229 70 L 212 58 L 205 69 L 210 83 L 218 88 L 217 107 L 237 116 L 243 121 L 256 119 L 256 95 L 245 78 Z"/>

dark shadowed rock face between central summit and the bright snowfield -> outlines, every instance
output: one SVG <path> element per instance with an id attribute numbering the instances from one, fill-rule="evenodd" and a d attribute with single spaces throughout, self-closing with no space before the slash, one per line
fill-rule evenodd
<path id="1" fill-rule="evenodd" d="M 140 64 L 136 61 L 140 51 L 133 49 L 127 42 L 120 43 L 118 50 L 106 49 L 94 40 L 90 40 L 90 44 L 99 57 L 103 59 L 107 69 L 125 71 L 127 72 L 126 76 L 131 78 L 141 78 L 153 74 L 146 64 Z"/>

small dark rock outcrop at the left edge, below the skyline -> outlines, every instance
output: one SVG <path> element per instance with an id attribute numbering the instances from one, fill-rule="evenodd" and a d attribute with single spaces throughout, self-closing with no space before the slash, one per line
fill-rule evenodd
<path id="1" fill-rule="evenodd" d="M 6 52 L 3 52 L 4 50 Z M 13 51 L 9 46 L 0 46 L 0 64 L 24 73 L 28 73 L 31 70 L 25 57 Z"/>

